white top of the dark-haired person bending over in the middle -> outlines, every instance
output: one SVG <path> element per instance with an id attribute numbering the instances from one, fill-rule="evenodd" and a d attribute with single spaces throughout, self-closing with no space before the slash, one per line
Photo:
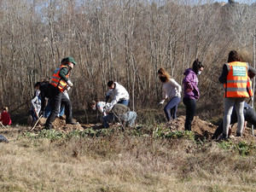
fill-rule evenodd
<path id="1" fill-rule="evenodd" d="M 117 82 L 114 82 L 115 87 L 113 90 L 108 90 L 107 96 L 112 96 L 113 100 L 110 102 L 108 111 L 110 111 L 113 106 L 118 103 L 120 100 L 129 100 L 130 96 L 125 87 Z"/>

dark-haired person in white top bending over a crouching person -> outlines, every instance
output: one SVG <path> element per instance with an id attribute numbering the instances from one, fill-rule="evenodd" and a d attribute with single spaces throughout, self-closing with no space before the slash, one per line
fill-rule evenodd
<path id="1" fill-rule="evenodd" d="M 110 102 L 108 106 L 108 110 L 110 111 L 116 103 L 124 104 L 128 106 L 129 104 L 129 93 L 125 90 L 125 87 L 117 82 L 108 81 L 108 92 L 106 94 L 106 102 L 110 96 L 113 97 L 113 100 Z"/>

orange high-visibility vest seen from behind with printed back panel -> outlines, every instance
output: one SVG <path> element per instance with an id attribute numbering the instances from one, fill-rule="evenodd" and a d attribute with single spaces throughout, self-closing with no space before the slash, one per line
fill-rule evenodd
<path id="1" fill-rule="evenodd" d="M 224 97 L 248 97 L 248 64 L 234 61 L 226 64 L 228 67 L 227 83 L 224 84 Z"/>

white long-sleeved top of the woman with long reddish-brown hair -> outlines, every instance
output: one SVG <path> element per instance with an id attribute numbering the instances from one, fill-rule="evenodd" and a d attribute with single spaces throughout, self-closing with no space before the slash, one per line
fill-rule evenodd
<path id="1" fill-rule="evenodd" d="M 177 96 L 181 97 L 182 87 L 179 85 L 174 79 L 169 79 L 166 83 L 162 86 L 162 101 L 164 103 L 165 100 L 172 99 L 172 97 Z"/>

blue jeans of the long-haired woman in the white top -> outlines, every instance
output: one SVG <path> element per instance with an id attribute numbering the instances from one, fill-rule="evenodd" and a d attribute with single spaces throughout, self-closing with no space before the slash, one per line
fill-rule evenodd
<path id="1" fill-rule="evenodd" d="M 177 104 L 180 102 L 180 98 L 177 96 L 172 97 L 170 102 L 166 104 L 164 111 L 166 113 L 166 119 L 168 121 L 177 118 Z"/>

